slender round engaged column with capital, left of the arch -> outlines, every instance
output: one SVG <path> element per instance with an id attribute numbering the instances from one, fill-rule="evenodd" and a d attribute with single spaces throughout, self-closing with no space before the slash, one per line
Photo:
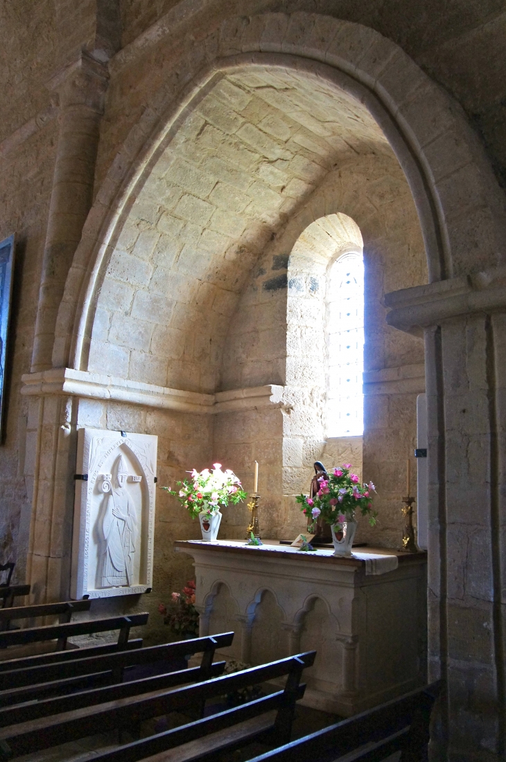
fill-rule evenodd
<path id="1" fill-rule="evenodd" d="M 59 304 L 93 198 L 107 67 L 81 53 L 49 88 L 59 94 L 59 138 L 49 205 L 32 372 L 52 367 Z"/>

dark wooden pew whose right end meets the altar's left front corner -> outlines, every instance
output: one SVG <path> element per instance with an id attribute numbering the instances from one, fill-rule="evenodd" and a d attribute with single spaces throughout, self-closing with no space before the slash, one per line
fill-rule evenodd
<path id="1" fill-rule="evenodd" d="M 86 680 L 108 680 L 109 682 L 119 683 L 123 680 L 123 674 L 126 668 L 141 666 L 145 664 L 154 664 L 160 661 L 174 661 L 182 659 L 186 655 L 202 653 L 202 662 L 199 667 L 194 669 L 185 669 L 180 672 L 179 684 L 190 682 L 192 680 L 206 680 L 211 677 L 211 672 L 216 673 L 212 668 L 212 661 L 215 656 L 216 648 L 226 648 L 232 644 L 234 632 L 224 632 L 221 635 L 206 636 L 205 638 L 193 638 L 191 640 L 182 640 L 164 645 L 152 645 L 148 648 L 140 648 L 135 651 L 122 651 L 113 654 L 91 655 L 87 658 L 70 659 L 50 664 L 40 664 L 39 666 L 27 666 L 21 669 L 0 673 L 0 706 L 11 706 L 21 703 L 24 700 L 39 698 L 41 696 L 59 696 L 64 694 L 70 688 L 86 683 Z M 221 671 L 224 662 L 221 662 Z M 175 674 L 175 673 L 173 673 Z M 218 671 L 218 674 L 221 674 Z M 101 677 L 97 677 L 97 676 Z M 171 685 L 178 684 L 172 682 Z M 54 704 L 38 703 L 35 708 L 27 709 L 31 717 L 43 716 L 44 706 L 55 706 Z M 56 713 L 46 711 L 47 714 Z M 31 713 L 30 713 L 31 712 Z M 34 713 L 33 713 L 34 712 Z M 28 714 L 25 719 L 28 719 Z M 16 719 L 10 722 L 19 722 L 21 715 L 15 715 Z M 9 724 L 8 717 L 0 709 L 0 725 Z"/>

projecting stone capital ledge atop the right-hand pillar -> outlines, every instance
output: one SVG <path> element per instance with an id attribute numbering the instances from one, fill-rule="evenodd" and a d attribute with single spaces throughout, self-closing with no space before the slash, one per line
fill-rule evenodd
<path id="1" fill-rule="evenodd" d="M 431 325 L 473 312 L 506 310 L 506 267 L 387 293 L 388 325 L 421 335 Z"/>

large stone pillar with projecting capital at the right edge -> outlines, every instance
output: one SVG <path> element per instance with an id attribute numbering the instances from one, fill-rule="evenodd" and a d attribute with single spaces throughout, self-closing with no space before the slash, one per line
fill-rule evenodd
<path id="1" fill-rule="evenodd" d="M 387 299 L 390 325 L 425 331 L 434 760 L 504 759 L 506 276 L 480 275 Z"/>

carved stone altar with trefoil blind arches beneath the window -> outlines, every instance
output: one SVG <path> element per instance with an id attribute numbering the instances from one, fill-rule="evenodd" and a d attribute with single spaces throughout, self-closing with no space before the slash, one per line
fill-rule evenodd
<path id="1" fill-rule="evenodd" d="M 236 632 L 222 658 L 259 664 L 317 650 L 304 672 L 307 706 L 352 716 L 425 682 L 425 553 L 175 546 L 195 559 L 200 635 Z"/>

